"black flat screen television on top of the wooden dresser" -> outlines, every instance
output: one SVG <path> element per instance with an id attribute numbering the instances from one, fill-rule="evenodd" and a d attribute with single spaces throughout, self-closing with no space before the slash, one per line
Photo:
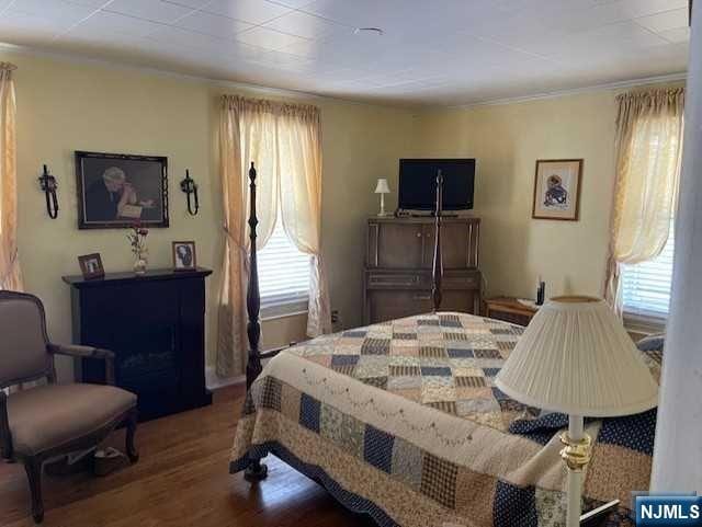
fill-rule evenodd
<path id="1" fill-rule="evenodd" d="M 443 210 L 472 209 L 475 159 L 400 159 L 398 208 L 433 210 L 439 170 L 443 175 Z"/>

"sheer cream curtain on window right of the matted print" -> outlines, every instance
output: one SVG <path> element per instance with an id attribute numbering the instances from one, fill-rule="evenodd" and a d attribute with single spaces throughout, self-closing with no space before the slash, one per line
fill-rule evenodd
<path id="1" fill-rule="evenodd" d="M 656 257 L 668 241 L 680 179 L 684 90 L 616 99 L 616 179 L 604 295 L 621 316 L 621 266 Z"/>

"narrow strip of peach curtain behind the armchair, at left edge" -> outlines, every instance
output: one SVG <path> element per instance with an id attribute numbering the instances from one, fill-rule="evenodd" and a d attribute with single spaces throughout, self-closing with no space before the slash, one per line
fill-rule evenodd
<path id="1" fill-rule="evenodd" d="M 22 290 L 18 257 L 14 66 L 0 62 L 0 289 Z"/>

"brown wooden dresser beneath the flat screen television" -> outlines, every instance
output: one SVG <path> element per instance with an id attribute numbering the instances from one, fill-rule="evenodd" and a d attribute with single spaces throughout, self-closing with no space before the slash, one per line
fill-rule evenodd
<path id="1" fill-rule="evenodd" d="M 442 218 L 442 310 L 480 312 L 479 229 L 479 218 Z M 364 323 L 431 312 L 433 251 L 431 217 L 369 219 L 363 270 Z"/>

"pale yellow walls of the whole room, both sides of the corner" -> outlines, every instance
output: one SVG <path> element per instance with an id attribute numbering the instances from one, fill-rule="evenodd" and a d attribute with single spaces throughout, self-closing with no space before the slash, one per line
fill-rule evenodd
<path id="1" fill-rule="evenodd" d="M 76 256 L 101 252 L 106 271 L 131 268 L 125 232 L 79 231 L 73 150 L 169 158 L 169 229 L 149 234 L 150 266 L 168 267 L 170 242 L 193 239 L 208 279 L 207 358 L 214 357 L 222 260 L 217 170 L 218 96 L 280 99 L 280 92 L 0 50 L 19 66 L 20 251 L 26 288 L 46 303 L 56 341 L 70 340 L 68 287 Z M 361 323 L 365 217 L 374 214 L 375 179 L 390 179 L 397 202 L 397 159 L 475 157 L 475 214 L 483 218 L 480 266 L 487 294 L 531 297 L 536 276 L 547 295 L 602 291 L 613 186 L 615 92 L 544 101 L 411 112 L 324 98 L 294 98 L 321 108 L 324 142 L 322 255 L 332 308 L 343 326 Z M 531 219 L 536 159 L 584 158 L 580 220 Z M 47 163 L 58 177 L 61 210 L 49 220 L 36 177 Z M 201 213 L 185 211 L 178 187 L 185 168 L 201 188 Z M 305 317 L 263 324 L 263 347 L 304 339 Z"/>

